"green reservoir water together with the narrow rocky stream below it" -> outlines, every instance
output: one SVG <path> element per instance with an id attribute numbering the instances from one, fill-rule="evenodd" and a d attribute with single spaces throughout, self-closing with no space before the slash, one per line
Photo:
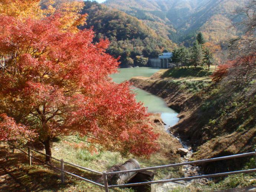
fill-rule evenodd
<path id="1" fill-rule="evenodd" d="M 134 68 L 122 68 L 119 69 L 119 73 L 111 75 L 113 81 L 116 83 L 124 82 L 125 80 L 129 80 L 132 77 L 142 76 L 142 77 L 150 77 L 154 73 L 158 72 L 160 69 L 154 69 L 150 67 L 134 67 Z M 142 89 L 134 87 L 133 90 L 136 94 L 136 99 L 138 102 L 144 103 L 144 106 L 148 108 L 149 113 L 160 113 L 161 119 L 165 123 L 165 130 L 169 132 L 168 128 L 174 126 L 180 120 L 177 116 L 178 113 L 175 112 L 173 109 L 168 107 L 165 101 L 151 93 L 148 93 Z M 176 138 L 180 141 L 183 145 L 183 148 L 188 149 L 189 147 L 184 143 L 181 139 L 175 137 L 170 133 L 171 136 Z M 193 150 L 190 150 L 187 155 L 181 157 L 182 162 L 187 162 L 188 159 L 193 155 Z M 200 169 L 197 166 L 185 165 L 183 166 L 182 171 L 184 172 L 184 176 L 190 175 L 198 175 Z M 166 176 L 164 179 L 170 179 L 170 176 Z M 169 182 L 163 184 L 154 185 L 153 191 L 155 192 L 165 192 L 169 191 L 170 189 L 174 189 L 176 187 L 184 187 L 188 186 L 191 181 L 180 181 L 180 182 Z"/>

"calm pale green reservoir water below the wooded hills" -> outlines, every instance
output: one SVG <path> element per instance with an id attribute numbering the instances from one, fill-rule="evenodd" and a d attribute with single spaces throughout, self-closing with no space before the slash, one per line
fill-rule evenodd
<path id="1" fill-rule="evenodd" d="M 121 83 L 135 76 L 150 77 L 155 72 L 158 72 L 158 70 L 160 69 L 153 69 L 150 67 L 122 68 L 119 69 L 119 73 L 111 75 L 111 77 L 114 82 Z M 178 113 L 168 107 L 163 99 L 136 87 L 133 91 L 136 94 L 137 101 L 143 102 L 144 106 L 148 107 L 149 113 L 161 113 L 161 118 L 166 124 L 166 128 L 178 123 Z"/>

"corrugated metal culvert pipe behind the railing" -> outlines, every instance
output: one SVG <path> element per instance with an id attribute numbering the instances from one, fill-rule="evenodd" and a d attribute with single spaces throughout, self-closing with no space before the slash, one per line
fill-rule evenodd
<path id="1" fill-rule="evenodd" d="M 127 162 L 125 162 L 121 166 L 118 166 L 118 170 L 115 170 L 115 171 L 128 171 L 128 170 L 140 169 L 140 168 L 141 168 L 140 163 L 137 160 L 129 159 Z M 110 183 L 112 185 L 121 185 L 121 184 L 127 183 L 136 174 L 137 174 L 137 172 L 116 174 L 111 178 Z"/>

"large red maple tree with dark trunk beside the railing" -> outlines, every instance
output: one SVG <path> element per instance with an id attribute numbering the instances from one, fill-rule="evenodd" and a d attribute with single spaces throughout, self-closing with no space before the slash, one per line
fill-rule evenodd
<path id="1" fill-rule="evenodd" d="M 80 135 L 121 153 L 155 152 L 158 135 L 147 123 L 145 107 L 129 83 L 109 77 L 119 63 L 105 53 L 108 41 L 93 44 L 92 30 L 61 30 L 61 17 L 0 15 L 0 114 L 11 117 L 11 133 L 17 126 L 33 131 L 47 155 L 51 140 L 61 135 Z M 5 125 L 2 120 L 1 129 Z"/>

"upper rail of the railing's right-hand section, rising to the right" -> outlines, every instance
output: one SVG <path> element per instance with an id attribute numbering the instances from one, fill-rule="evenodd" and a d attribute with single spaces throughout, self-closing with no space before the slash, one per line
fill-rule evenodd
<path id="1" fill-rule="evenodd" d="M 147 170 L 162 169 L 162 168 L 169 168 L 169 167 L 177 167 L 177 166 L 191 165 L 191 164 L 193 165 L 193 164 L 213 162 L 213 161 L 225 160 L 225 159 L 234 159 L 234 158 L 253 156 L 253 155 L 255 155 L 255 152 L 242 153 L 242 154 L 238 154 L 238 155 L 230 155 L 230 156 L 224 156 L 224 157 L 219 157 L 219 158 L 196 160 L 196 161 L 190 161 L 190 162 L 184 162 L 184 163 L 175 163 L 175 164 L 170 164 L 170 165 L 162 165 L 162 166 L 155 166 L 155 167 L 148 167 L 148 168 L 141 168 L 141 169 L 132 169 L 132 170 L 128 170 L 128 171 L 106 172 L 106 175 L 116 175 L 116 174 L 120 174 L 120 173 L 147 171 Z"/>

